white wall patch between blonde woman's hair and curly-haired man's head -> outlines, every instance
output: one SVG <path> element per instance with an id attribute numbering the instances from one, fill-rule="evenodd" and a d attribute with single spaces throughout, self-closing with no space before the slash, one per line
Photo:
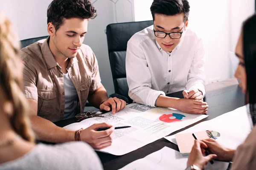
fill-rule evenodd
<path id="1" fill-rule="evenodd" d="M 47 7 L 52 0 L 0 0 L 20 40 L 48 35 Z"/>

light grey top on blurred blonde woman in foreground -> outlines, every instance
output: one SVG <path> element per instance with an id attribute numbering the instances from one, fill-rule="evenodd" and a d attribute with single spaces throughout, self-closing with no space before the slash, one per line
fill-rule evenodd
<path id="1" fill-rule="evenodd" d="M 38 144 L 26 155 L 0 164 L 0 170 L 103 170 L 99 157 L 84 142 Z"/>

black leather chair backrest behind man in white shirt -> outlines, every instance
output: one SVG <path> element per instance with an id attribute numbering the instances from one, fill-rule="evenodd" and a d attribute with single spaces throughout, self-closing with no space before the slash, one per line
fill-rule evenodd
<path id="1" fill-rule="evenodd" d="M 137 32 L 153 25 L 153 21 L 114 23 L 107 26 L 108 57 L 111 66 L 115 93 L 128 96 L 128 84 L 125 71 L 127 42 Z"/>

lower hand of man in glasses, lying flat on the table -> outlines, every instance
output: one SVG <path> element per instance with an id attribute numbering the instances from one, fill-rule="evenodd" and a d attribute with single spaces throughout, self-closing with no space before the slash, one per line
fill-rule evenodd
<path id="1" fill-rule="evenodd" d="M 192 113 L 192 114 L 207 114 L 207 102 L 198 101 L 194 99 L 178 99 L 177 110 Z"/>

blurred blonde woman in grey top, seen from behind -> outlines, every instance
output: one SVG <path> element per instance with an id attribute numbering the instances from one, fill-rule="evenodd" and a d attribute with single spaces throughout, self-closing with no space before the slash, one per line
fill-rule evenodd
<path id="1" fill-rule="evenodd" d="M 34 143 L 22 92 L 19 40 L 0 12 L 0 170 L 98 170 L 102 164 L 84 142 Z"/>

